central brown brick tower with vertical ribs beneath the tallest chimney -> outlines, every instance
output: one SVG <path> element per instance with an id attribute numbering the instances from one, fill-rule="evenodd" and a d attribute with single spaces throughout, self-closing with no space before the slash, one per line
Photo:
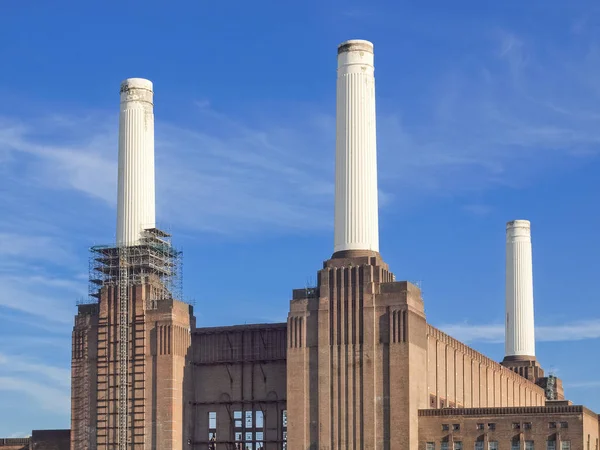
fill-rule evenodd
<path id="1" fill-rule="evenodd" d="M 294 292 L 288 316 L 289 447 L 416 446 L 427 407 L 419 289 L 374 254 L 326 261 L 307 294 Z"/>

